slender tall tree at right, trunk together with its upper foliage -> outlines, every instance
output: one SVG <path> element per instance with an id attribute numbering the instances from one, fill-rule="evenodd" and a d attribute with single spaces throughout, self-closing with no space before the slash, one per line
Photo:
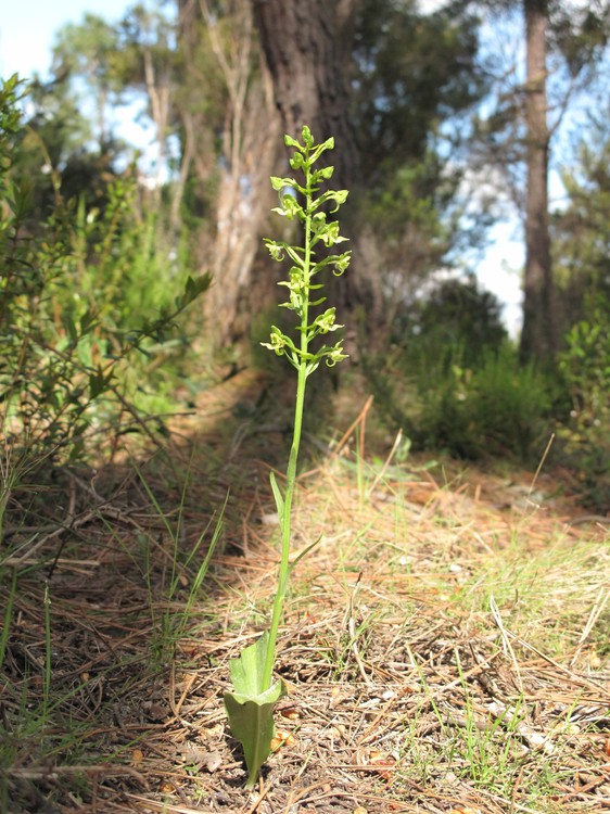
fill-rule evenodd
<path id="1" fill-rule="evenodd" d="M 485 122 L 487 160 L 505 170 L 523 212 L 521 357 L 548 364 L 559 347 L 548 211 L 551 140 L 574 93 L 590 81 L 590 67 L 606 46 L 608 2 L 573 7 L 568 0 L 475 0 L 473 4 L 494 12 L 518 11 L 522 18 L 524 49 L 519 50 L 525 54 L 524 78 L 497 93 L 497 107 Z M 501 71 L 505 77 L 521 73 L 516 65 L 504 65 Z M 555 99 L 549 103 L 551 77 Z M 519 165 L 525 168 L 524 179 L 516 170 Z"/>

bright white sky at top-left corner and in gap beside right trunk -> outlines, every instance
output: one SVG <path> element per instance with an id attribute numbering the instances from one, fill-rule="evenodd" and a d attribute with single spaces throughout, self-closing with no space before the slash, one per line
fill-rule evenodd
<path id="1" fill-rule="evenodd" d="M 18 73 L 27 78 L 37 72 L 45 77 L 51 63 L 53 38 L 62 25 L 79 23 L 87 12 L 114 22 L 131 4 L 128 0 L 14 0 L 4 3 L 0 17 L 0 76 L 7 78 Z M 432 8 L 439 0 L 425 0 L 423 4 Z M 514 219 L 498 224 L 490 232 L 490 246 L 478 265 L 476 276 L 481 284 L 504 303 L 504 319 L 511 335 L 517 333 L 521 320 L 522 265 L 519 225 Z"/>

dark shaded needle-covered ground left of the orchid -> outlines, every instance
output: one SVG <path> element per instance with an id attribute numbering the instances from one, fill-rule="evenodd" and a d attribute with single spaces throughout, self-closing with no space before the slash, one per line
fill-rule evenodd
<path id="1" fill-rule="evenodd" d="M 41 470 L 10 494 L 1 812 L 126 811 L 128 791 L 171 786 L 175 763 L 192 774 L 215 763 L 187 736 L 209 704 L 224 730 L 205 672 L 215 641 L 230 650 L 227 638 L 253 622 L 246 601 L 221 618 L 227 593 L 245 597 L 252 571 L 275 570 L 268 476 L 288 457 L 290 385 L 240 371 L 168 434 L 149 432 L 145 451 L 126 437 L 110 463 Z M 227 781 L 241 788 L 241 762 L 231 766 Z"/>

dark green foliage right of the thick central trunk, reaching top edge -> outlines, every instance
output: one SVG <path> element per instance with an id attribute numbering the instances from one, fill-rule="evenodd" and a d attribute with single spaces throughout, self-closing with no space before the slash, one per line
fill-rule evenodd
<path id="1" fill-rule="evenodd" d="M 367 260 L 378 269 L 389 322 L 405 292 L 483 237 L 488 216 L 471 201 L 465 217 L 460 160 L 468 112 L 484 92 L 478 30 L 463 4 L 432 14 L 415 0 L 358 4 L 351 109 L 359 147 L 356 228 L 374 250 Z"/>

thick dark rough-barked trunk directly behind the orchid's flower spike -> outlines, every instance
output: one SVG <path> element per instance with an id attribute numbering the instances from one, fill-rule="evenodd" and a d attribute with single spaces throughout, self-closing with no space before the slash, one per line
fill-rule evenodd
<path id="1" fill-rule="evenodd" d="M 358 2 L 252 0 L 284 132 L 300 138 L 303 125 L 308 125 L 317 141 L 333 136 L 336 149 L 329 157 L 334 166 L 332 186 L 352 192 L 360 178 L 348 103 Z M 282 171 L 278 168 L 278 175 Z M 374 274 L 358 262 L 358 238 L 350 228 L 348 212 L 350 203 L 342 211 L 342 231 L 352 240 L 353 263 L 345 277 L 338 281 L 333 302 L 340 314 L 364 305 L 367 318 L 376 319 L 379 318 L 380 296 L 373 284 Z"/>

